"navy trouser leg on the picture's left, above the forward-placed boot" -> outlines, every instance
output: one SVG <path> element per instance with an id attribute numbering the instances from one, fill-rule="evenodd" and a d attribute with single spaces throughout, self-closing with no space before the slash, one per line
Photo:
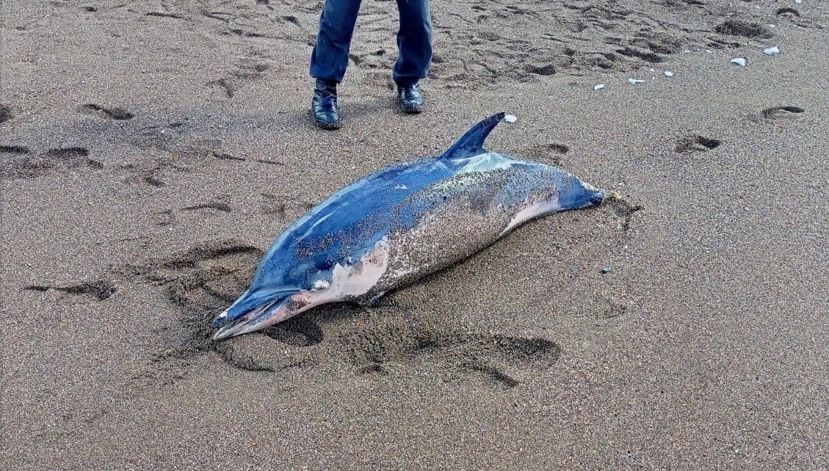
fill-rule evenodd
<path id="1" fill-rule="evenodd" d="M 319 17 L 317 44 L 311 52 L 311 76 L 342 82 L 360 0 L 326 0 Z"/>

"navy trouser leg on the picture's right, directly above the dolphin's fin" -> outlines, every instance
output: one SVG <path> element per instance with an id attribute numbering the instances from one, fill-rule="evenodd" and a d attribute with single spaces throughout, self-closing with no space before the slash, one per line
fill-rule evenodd
<path id="1" fill-rule="evenodd" d="M 397 32 L 399 56 L 393 78 L 397 85 L 412 85 L 426 78 L 432 61 L 432 19 L 429 0 L 397 0 L 400 30 Z"/>

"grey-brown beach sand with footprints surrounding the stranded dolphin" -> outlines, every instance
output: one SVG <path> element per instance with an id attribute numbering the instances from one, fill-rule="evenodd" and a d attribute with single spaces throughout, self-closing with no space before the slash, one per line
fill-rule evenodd
<path id="1" fill-rule="evenodd" d="M 433 2 L 409 116 L 363 3 L 323 133 L 322 2 L 3 2 L 0 468 L 822 469 L 826 6 Z M 502 110 L 623 201 L 209 341 L 308 208 Z"/>

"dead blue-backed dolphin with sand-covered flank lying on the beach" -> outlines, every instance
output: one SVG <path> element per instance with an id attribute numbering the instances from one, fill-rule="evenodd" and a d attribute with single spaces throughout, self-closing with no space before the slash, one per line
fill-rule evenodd
<path id="1" fill-rule="evenodd" d="M 560 168 L 484 149 L 503 117 L 482 120 L 439 157 L 383 168 L 308 211 L 271 245 L 250 289 L 213 321 L 213 339 L 324 303 L 371 303 L 536 216 L 608 198 Z"/>

